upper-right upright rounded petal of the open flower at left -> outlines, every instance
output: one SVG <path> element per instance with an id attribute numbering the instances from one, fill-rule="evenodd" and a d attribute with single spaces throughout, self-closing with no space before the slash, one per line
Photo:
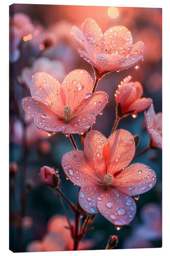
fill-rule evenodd
<path id="1" fill-rule="evenodd" d="M 93 80 L 86 70 L 71 71 L 62 82 L 64 105 L 69 105 L 71 111 L 76 110 L 80 102 L 91 93 Z"/>

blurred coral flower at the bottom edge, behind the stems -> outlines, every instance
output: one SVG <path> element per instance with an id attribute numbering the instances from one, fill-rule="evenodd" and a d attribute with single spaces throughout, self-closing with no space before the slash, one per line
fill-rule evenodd
<path id="1" fill-rule="evenodd" d="M 74 221 L 71 220 L 71 225 Z M 47 234 L 42 241 L 33 241 L 27 246 L 27 251 L 64 251 L 73 250 L 74 240 L 65 216 L 54 215 L 47 223 Z M 79 250 L 90 249 L 94 245 L 93 240 L 85 239 L 79 244 Z"/>

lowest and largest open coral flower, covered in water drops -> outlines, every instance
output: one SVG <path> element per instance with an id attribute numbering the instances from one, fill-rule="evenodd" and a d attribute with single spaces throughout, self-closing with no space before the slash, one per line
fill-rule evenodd
<path id="1" fill-rule="evenodd" d="M 135 142 L 126 130 L 114 132 L 108 139 L 91 131 L 84 151 L 71 151 L 62 158 L 67 177 L 81 187 L 79 203 L 90 214 L 101 214 L 114 225 L 129 224 L 136 204 L 131 196 L 150 190 L 156 183 L 151 167 L 134 163 Z"/>

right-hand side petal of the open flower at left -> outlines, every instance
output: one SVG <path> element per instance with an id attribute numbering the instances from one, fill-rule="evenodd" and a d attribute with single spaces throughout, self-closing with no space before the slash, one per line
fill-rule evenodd
<path id="1" fill-rule="evenodd" d="M 105 108 L 108 103 L 108 94 L 106 92 L 98 91 L 95 93 L 89 93 L 76 110 L 77 116 L 92 115 L 97 116 Z"/>

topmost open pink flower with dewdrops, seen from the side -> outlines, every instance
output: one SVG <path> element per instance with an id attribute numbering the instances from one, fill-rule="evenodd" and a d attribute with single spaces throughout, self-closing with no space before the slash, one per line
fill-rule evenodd
<path id="1" fill-rule="evenodd" d="M 143 57 L 143 42 L 132 45 L 131 32 L 123 26 L 114 26 L 103 34 L 95 20 L 87 18 L 81 30 L 72 27 L 72 34 L 79 54 L 100 74 L 129 69 Z"/>

